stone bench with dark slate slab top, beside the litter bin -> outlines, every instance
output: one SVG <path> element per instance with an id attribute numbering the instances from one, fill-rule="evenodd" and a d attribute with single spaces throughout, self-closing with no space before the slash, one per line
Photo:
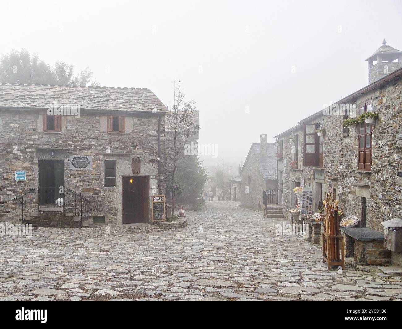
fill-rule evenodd
<path id="1" fill-rule="evenodd" d="M 368 227 L 340 227 L 345 237 L 345 257 L 360 265 L 389 265 L 391 252 L 384 248 L 384 234 Z"/>

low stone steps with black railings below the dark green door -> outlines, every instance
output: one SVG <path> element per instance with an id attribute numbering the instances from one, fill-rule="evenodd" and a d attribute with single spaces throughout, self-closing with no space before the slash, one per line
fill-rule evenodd
<path id="1" fill-rule="evenodd" d="M 63 213 L 56 210 L 37 210 L 23 218 L 23 224 L 31 224 L 33 227 L 82 227 L 80 217 L 74 217 L 72 213 Z"/>

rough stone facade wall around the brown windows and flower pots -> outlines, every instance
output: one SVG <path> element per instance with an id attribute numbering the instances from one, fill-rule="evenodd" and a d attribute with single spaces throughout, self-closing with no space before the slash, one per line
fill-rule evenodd
<path id="1" fill-rule="evenodd" d="M 283 141 L 283 161 L 278 170 L 283 171 L 282 202 L 285 208 L 291 206 L 295 193 L 292 182 L 302 182 L 313 188 L 313 204 L 318 202 L 320 184 L 314 182 L 314 170 L 319 168 L 303 166 L 303 127 L 306 123 L 323 123 L 326 129 L 323 143 L 323 169 L 325 182 L 322 193 L 336 192 L 339 206 L 345 216 L 362 218 L 362 202 L 366 202 L 366 227 L 382 232 L 381 222 L 391 218 L 402 218 L 402 79 L 390 81 L 383 86 L 348 100 L 350 104 L 367 102 L 373 97 L 373 112 L 379 113 L 379 120 L 372 125 L 371 172 L 357 169 L 358 131 L 356 126 L 343 128 L 343 113 L 317 114 L 301 121 L 293 135 L 299 136 L 299 170 L 291 170 L 289 163 L 295 155 L 291 153 L 291 133 L 279 136 Z M 294 201 L 294 199 L 293 199 Z M 401 257 L 393 256 L 393 259 Z"/>

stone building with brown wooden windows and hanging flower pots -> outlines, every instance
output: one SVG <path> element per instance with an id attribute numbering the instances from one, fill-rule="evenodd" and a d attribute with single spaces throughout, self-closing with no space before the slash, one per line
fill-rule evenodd
<path id="1" fill-rule="evenodd" d="M 384 45 L 379 54 L 381 49 Z M 285 209 L 296 204 L 294 187 L 309 186 L 313 210 L 318 210 L 325 192 L 334 192 L 345 216 L 361 219 L 361 227 L 382 232 L 381 222 L 402 218 L 402 68 L 398 65 L 375 81 L 369 69 L 371 84 L 275 136 L 283 154 L 278 180 L 279 203 Z M 379 114 L 374 123 L 344 127 L 344 119 L 370 111 Z M 324 136 L 317 136 L 318 127 L 325 129 Z M 402 255 L 393 252 L 392 263 L 402 264 Z"/>

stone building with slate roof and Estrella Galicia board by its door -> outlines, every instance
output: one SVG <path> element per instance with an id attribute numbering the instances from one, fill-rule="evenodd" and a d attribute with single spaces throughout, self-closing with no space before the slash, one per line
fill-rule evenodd
<path id="1" fill-rule="evenodd" d="M 84 224 L 150 223 L 151 196 L 165 194 L 167 114 L 146 88 L 0 84 L 1 220 L 21 221 L 12 200 L 25 193 L 37 221 L 64 209 Z"/>

